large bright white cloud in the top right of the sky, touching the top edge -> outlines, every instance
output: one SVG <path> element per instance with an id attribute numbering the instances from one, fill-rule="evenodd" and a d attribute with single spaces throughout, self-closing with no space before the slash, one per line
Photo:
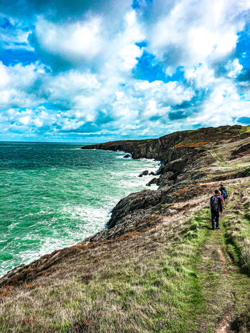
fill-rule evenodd
<path id="1" fill-rule="evenodd" d="M 238 31 L 244 27 L 244 20 L 237 19 L 243 8 L 250 8 L 246 1 L 179 1 L 169 15 L 159 17 L 147 32 L 151 49 L 162 60 L 169 47 L 179 51 L 168 54 L 169 66 L 197 66 L 227 56 L 238 40 Z M 244 3 L 244 6 L 243 6 Z M 229 18 L 229 19 L 228 19 Z"/>

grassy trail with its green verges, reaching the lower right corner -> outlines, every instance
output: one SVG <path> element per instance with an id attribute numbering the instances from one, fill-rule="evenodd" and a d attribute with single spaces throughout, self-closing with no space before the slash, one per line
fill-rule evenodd
<path id="1" fill-rule="evenodd" d="M 239 249 L 228 242 L 228 220 L 229 228 L 233 223 L 237 224 L 234 211 L 239 202 L 237 193 L 232 193 L 228 200 L 220 230 L 208 227 L 207 215 L 197 262 L 200 293 L 199 301 L 193 309 L 197 321 L 197 330 L 193 332 L 250 332 L 250 279 L 247 272 L 242 271 L 238 258 Z"/>

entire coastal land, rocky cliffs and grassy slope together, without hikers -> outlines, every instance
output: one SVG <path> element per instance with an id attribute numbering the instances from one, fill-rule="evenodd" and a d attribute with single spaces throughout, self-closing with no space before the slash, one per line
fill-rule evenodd
<path id="1" fill-rule="evenodd" d="M 106 230 L 1 278 L 0 332 L 249 332 L 250 127 L 83 148 L 161 160 L 158 190 L 122 198 Z M 229 198 L 211 230 L 221 182 Z"/>

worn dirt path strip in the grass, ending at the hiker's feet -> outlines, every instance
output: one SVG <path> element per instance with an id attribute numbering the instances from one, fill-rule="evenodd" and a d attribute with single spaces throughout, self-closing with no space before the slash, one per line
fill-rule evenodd
<path id="1" fill-rule="evenodd" d="M 205 298 L 210 309 L 209 321 L 213 323 L 215 333 L 229 333 L 234 320 L 234 290 L 232 273 L 238 270 L 222 248 L 222 232 L 211 230 L 208 242 L 203 244 L 200 271 L 205 280 Z M 202 323 L 200 332 L 210 332 Z"/>

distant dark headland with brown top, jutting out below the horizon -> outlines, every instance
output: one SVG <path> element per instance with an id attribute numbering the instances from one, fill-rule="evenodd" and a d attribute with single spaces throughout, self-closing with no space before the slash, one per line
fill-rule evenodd
<path id="1" fill-rule="evenodd" d="M 249 137 L 249 126 L 220 126 L 218 128 L 201 128 L 185 130 L 160 137 L 139 141 L 117 141 L 104 144 L 84 146 L 82 149 L 104 149 L 110 151 L 125 151 L 133 158 L 154 158 L 164 164 L 190 153 L 202 153 L 211 146 L 221 144 L 228 139 L 238 140 Z"/>

